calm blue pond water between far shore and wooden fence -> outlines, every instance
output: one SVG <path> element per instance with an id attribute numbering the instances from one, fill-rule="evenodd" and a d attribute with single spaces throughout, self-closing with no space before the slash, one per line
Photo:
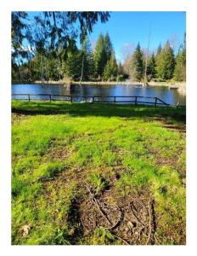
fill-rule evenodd
<path id="1" fill-rule="evenodd" d="M 151 96 L 158 97 L 168 104 L 186 105 L 186 96 L 178 93 L 177 90 L 170 90 L 166 86 L 141 87 L 140 85 L 78 85 L 74 86 L 73 91 L 69 91 L 63 85 L 58 84 L 13 84 L 13 94 L 57 94 L 71 96 Z M 14 97 L 13 97 L 14 98 Z M 16 96 L 15 96 L 16 98 Z M 21 96 L 20 96 L 21 98 Z M 44 98 L 44 97 L 42 97 Z"/>

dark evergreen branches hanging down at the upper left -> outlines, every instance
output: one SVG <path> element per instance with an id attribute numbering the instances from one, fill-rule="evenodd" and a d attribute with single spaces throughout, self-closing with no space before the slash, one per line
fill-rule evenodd
<path id="1" fill-rule="evenodd" d="M 20 78 L 20 69 L 24 67 L 19 66 L 19 60 L 27 59 L 31 60 L 35 57 L 35 53 L 32 54 L 32 49 L 36 52 L 36 55 L 41 56 L 40 60 L 40 70 L 37 70 L 37 74 L 40 73 L 40 78 L 43 79 L 48 76 L 54 76 L 51 74 L 51 71 L 48 71 L 50 67 L 49 62 L 52 60 L 48 60 L 44 56 L 44 51 L 48 49 L 59 51 L 59 49 L 64 48 L 69 51 L 73 48 L 73 45 L 76 45 L 76 38 L 80 38 L 80 42 L 83 41 L 84 38 L 87 37 L 87 34 L 93 32 L 93 26 L 98 22 L 101 23 L 106 22 L 110 18 L 109 12 L 38 12 L 37 14 L 31 14 L 31 17 L 28 16 L 27 12 L 12 12 L 12 27 L 11 27 L 11 35 L 12 35 L 12 67 L 14 68 L 12 72 L 12 79 L 16 81 L 16 79 Z M 31 22 L 30 22 L 31 20 Z M 79 29 L 76 28 L 76 24 L 79 25 Z M 28 47 L 26 47 L 28 45 Z M 31 49 L 31 50 L 29 50 Z M 71 57 L 71 52 L 69 54 L 65 54 L 66 58 L 63 62 L 61 61 L 61 56 L 59 56 L 58 60 L 58 77 L 61 77 L 61 69 L 66 69 L 68 73 L 73 73 L 74 67 L 70 62 L 70 67 L 65 68 L 65 61 L 67 59 L 67 55 L 69 55 L 69 59 L 74 58 Z M 78 56 L 75 56 L 75 59 Z M 45 62 L 44 62 L 45 61 Z M 46 63 L 46 61 L 48 63 Z M 76 60 L 75 60 L 76 61 Z M 56 61 L 53 60 L 52 62 Z M 48 68 L 46 69 L 45 67 Z M 51 65 L 53 67 L 53 65 Z M 35 73 L 35 75 L 36 75 Z M 76 73 L 76 72 L 75 72 Z M 37 76 L 37 75 L 36 75 Z M 33 78 L 35 79 L 35 78 Z"/>

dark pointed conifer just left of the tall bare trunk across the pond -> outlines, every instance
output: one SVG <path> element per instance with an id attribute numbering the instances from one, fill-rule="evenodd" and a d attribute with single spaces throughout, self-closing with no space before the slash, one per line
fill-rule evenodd
<path id="1" fill-rule="evenodd" d="M 141 81 L 144 77 L 143 52 L 139 43 L 132 55 L 131 77 L 134 81 Z"/>

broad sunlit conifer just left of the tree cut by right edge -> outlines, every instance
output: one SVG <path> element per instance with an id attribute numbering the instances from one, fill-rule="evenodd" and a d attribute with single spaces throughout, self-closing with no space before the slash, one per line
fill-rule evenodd
<path id="1" fill-rule="evenodd" d="M 173 50 L 167 41 L 156 57 L 156 72 L 159 79 L 172 79 L 175 67 Z"/>

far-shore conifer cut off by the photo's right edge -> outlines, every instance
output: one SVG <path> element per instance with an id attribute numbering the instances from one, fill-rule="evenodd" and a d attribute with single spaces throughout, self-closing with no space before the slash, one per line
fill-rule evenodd
<path id="1" fill-rule="evenodd" d="M 184 42 L 180 46 L 174 70 L 174 79 L 176 81 L 186 81 L 186 35 L 184 34 Z"/>

